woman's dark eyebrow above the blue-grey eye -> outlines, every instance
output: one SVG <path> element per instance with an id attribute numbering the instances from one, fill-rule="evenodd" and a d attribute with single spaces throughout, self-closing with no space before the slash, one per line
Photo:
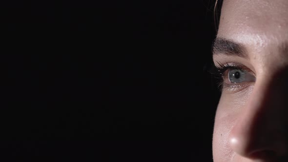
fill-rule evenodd
<path id="1" fill-rule="evenodd" d="M 247 58 L 247 52 L 242 44 L 224 38 L 216 38 L 212 45 L 213 55 L 227 55 Z"/>

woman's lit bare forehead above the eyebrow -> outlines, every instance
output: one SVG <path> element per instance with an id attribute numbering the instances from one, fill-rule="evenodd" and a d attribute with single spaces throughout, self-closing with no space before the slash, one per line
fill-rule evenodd
<path id="1" fill-rule="evenodd" d="M 288 0 L 224 0 L 218 37 L 258 48 L 287 42 Z"/>

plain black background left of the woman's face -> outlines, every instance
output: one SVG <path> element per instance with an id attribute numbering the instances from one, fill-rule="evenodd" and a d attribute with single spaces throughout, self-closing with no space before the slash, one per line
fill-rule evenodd
<path id="1" fill-rule="evenodd" d="M 0 2 L 12 162 L 211 162 L 209 0 Z"/>

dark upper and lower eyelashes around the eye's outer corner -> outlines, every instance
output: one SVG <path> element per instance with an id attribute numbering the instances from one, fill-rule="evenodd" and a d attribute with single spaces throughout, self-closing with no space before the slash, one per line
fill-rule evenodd
<path id="1" fill-rule="evenodd" d="M 231 65 L 228 63 L 222 64 L 220 62 L 217 62 L 217 64 L 218 66 L 213 64 L 213 67 L 210 70 L 210 74 L 212 74 L 216 79 L 216 83 L 220 91 L 223 91 L 227 88 L 235 88 L 235 86 L 240 86 L 241 83 L 226 83 L 224 81 L 225 77 L 227 77 L 225 73 L 227 70 L 240 70 L 242 72 L 247 72 L 247 70 L 244 70 L 240 65 Z"/>

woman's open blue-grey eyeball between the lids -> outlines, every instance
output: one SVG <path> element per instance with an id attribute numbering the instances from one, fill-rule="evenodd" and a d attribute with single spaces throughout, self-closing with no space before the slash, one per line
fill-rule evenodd
<path id="1" fill-rule="evenodd" d="M 256 78 L 245 70 L 229 69 L 228 80 L 230 83 L 252 82 Z"/>

